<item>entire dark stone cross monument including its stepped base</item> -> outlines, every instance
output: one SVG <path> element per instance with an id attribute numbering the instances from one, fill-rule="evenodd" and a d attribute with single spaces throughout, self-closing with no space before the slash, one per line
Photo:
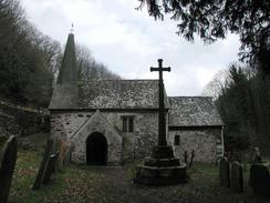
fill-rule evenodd
<path id="1" fill-rule="evenodd" d="M 150 71 L 159 73 L 159 111 L 158 111 L 158 144 L 154 146 L 152 156 L 145 159 L 144 165 L 137 165 L 134 183 L 145 185 L 169 185 L 186 182 L 186 164 L 180 164 L 179 159 L 174 158 L 174 151 L 166 141 L 166 110 L 164 103 L 163 60 L 158 59 L 158 68 Z"/>

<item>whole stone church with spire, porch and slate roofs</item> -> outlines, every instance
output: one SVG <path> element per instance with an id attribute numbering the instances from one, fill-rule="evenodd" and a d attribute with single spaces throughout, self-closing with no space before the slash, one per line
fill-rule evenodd
<path id="1" fill-rule="evenodd" d="M 51 136 L 74 146 L 82 164 L 121 164 L 150 154 L 158 134 L 158 80 L 77 80 L 70 33 L 50 102 Z M 147 71 L 147 69 L 146 69 Z M 176 158 L 195 161 L 222 153 L 222 121 L 206 97 L 167 97 L 167 141 Z"/>

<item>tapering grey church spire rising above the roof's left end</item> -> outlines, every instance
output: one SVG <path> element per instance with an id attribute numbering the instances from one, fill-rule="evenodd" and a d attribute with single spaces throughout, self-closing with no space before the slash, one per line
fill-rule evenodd
<path id="1" fill-rule="evenodd" d="M 64 57 L 59 71 L 59 84 L 75 84 L 77 82 L 77 67 L 75 57 L 74 34 L 71 32 L 64 50 Z"/>

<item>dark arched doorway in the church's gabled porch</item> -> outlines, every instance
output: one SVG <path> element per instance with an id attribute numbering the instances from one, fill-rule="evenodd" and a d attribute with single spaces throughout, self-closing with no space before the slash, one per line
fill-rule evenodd
<path id="1" fill-rule="evenodd" d="M 106 165 L 107 140 L 100 133 L 94 132 L 86 140 L 86 164 Z"/>

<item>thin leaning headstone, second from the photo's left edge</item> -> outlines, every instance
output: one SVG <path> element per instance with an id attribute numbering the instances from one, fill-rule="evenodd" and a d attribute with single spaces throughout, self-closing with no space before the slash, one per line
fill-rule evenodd
<path id="1" fill-rule="evenodd" d="M 34 180 L 34 184 L 33 184 L 32 190 L 40 189 L 40 186 L 42 184 L 42 180 L 44 177 L 44 172 L 45 172 L 45 168 L 46 168 L 46 164 L 48 164 L 48 160 L 50 159 L 50 155 L 51 155 L 52 144 L 53 144 L 53 140 L 51 140 L 51 139 L 48 140 L 45 152 L 43 154 L 43 159 L 41 161 L 40 169 L 39 169 L 39 172 L 37 174 L 35 180 Z"/>

